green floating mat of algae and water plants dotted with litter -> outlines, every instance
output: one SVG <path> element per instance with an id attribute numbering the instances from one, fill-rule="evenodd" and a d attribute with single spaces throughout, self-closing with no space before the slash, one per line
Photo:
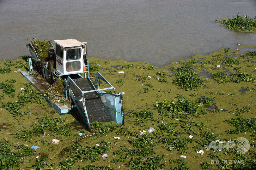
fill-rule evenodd
<path id="1" fill-rule="evenodd" d="M 124 92 L 125 126 L 59 116 L 18 71 L 28 71 L 25 56 L 0 62 L 0 169 L 255 168 L 256 46 L 239 49 L 251 50 L 161 68 L 89 57 L 89 76 Z"/>

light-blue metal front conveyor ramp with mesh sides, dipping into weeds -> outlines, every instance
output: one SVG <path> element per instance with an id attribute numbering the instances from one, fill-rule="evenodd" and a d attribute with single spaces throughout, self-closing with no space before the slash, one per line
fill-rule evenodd
<path id="1" fill-rule="evenodd" d="M 104 90 L 113 89 L 114 91 L 114 87 L 100 73 L 97 73 L 95 79 L 94 84 L 88 76 L 77 79 L 71 79 L 68 76 L 67 80 L 64 80 L 65 89 L 70 92 L 70 98 L 75 103 L 83 121 L 87 124 L 94 121 L 115 121 L 124 125 L 122 93 L 106 93 Z M 96 83 L 100 79 L 111 87 L 99 89 Z"/>

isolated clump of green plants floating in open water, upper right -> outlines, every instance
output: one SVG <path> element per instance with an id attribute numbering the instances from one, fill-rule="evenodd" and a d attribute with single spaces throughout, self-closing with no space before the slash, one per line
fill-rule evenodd
<path id="1" fill-rule="evenodd" d="M 226 26 L 226 28 L 229 28 L 229 29 L 236 29 L 241 31 L 256 30 L 256 17 L 251 19 L 247 15 L 239 16 L 238 14 L 236 15 L 236 18 L 233 17 L 232 19 L 228 19 L 228 20 L 221 19 L 221 21 L 216 20 L 216 22 L 222 23 L 224 26 Z"/>

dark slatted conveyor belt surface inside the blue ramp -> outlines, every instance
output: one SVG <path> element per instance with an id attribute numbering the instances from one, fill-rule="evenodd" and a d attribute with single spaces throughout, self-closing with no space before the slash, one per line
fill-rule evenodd
<path id="1" fill-rule="evenodd" d="M 74 82 L 82 91 L 94 90 L 87 78 L 74 79 Z M 82 93 L 77 88 L 75 88 L 75 86 L 70 84 L 70 88 L 76 97 L 82 96 Z M 97 96 L 96 92 L 84 93 L 83 97 L 85 99 L 85 106 L 86 106 L 86 110 L 87 110 L 87 114 L 90 122 L 112 121 L 106 109 L 102 105 L 100 98 Z M 84 118 L 87 119 L 85 116 L 84 110 L 82 108 L 82 102 L 76 100 L 76 103 L 78 105 L 77 108 L 80 109 L 82 113 L 82 116 L 84 116 Z"/>

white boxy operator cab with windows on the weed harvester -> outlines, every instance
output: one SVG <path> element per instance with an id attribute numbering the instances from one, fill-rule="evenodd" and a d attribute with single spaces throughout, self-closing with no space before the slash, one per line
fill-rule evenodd
<path id="1" fill-rule="evenodd" d="M 86 71 L 87 43 L 76 39 L 52 40 L 55 47 L 54 65 L 63 75 L 82 73 Z"/>

